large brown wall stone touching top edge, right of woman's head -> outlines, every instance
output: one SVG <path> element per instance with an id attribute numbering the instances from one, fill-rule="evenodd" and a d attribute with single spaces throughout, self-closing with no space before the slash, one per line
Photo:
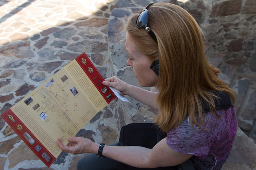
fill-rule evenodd
<path id="1" fill-rule="evenodd" d="M 238 14 L 241 10 L 242 0 L 228 0 L 215 4 L 212 7 L 211 17 L 214 16 L 229 16 Z"/>

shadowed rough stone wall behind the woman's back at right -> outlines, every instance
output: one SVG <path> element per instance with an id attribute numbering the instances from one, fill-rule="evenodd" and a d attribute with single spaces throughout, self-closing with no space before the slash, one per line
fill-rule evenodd
<path id="1" fill-rule="evenodd" d="M 256 141 L 256 0 L 171 2 L 190 12 L 202 28 L 209 61 L 237 94 L 238 125 Z"/>

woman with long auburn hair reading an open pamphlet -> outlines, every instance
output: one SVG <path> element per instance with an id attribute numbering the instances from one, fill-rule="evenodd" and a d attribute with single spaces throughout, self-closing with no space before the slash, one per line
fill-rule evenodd
<path id="1" fill-rule="evenodd" d="M 63 146 L 58 139 L 60 148 L 72 154 L 98 153 L 108 157 L 107 162 L 139 168 L 176 166 L 190 159 L 196 169 L 220 169 L 236 134 L 236 111 L 233 106 L 220 109 L 216 105 L 220 94 L 234 100 L 234 92 L 218 78 L 219 70 L 208 63 L 203 34 L 194 18 L 174 4 L 150 3 L 128 20 L 126 31 L 127 64 L 133 67 L 140 86 L 156 86 L 159 92 L 116 77 L 103 84 L 158 109 L 155 123 L 167 137 L 153 149 L 99 146 L 82 137 L 70 138 L 70 146 Z M 84 161 L 86 158 L 78 162 L 78 168 Z M 109 169 L 116 168 L 113 162 Z M 98 164 L 104 169 L 104 163 Z"/>

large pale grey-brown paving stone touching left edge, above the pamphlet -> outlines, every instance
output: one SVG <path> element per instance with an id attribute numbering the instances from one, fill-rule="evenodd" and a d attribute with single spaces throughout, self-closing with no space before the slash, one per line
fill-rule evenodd
<path id="1" fill-rule="evenodd" d="M 1 55 L 6 57 L 32 58 L 34 53 L 30 50 L 30 41 L 13 43 L 12 45 L 2 46 L 0 48 Z"/>

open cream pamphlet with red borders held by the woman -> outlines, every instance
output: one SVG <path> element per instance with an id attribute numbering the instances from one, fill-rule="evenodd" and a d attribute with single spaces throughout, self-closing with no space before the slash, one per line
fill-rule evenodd
<path id="1" fill-rule="evenodd" d="M 85 53 L 12 106 L 1 117 L 28 147 L 50 165 L 86 123 L 114 98 Z"/>

